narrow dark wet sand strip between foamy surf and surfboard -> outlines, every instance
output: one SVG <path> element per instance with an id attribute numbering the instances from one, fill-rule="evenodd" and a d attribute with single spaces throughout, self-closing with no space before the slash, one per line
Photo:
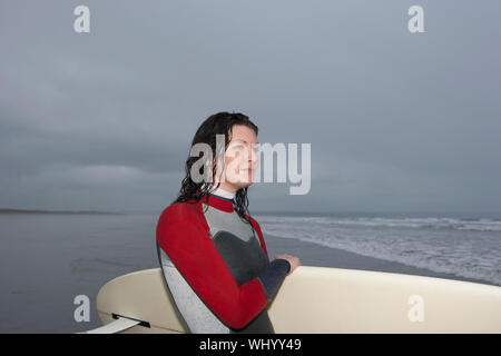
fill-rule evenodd
<path id="1" fill-rule="evenodd" d="M 275 255 L 288 254 L 297 256 L 303 266 L 362 269 L 404 275 L 416 275 L 435 278 L 472 281 L 484 285 L 498 285 L 478 278 L 468 278 L 450 273 L 434 271 L 428 268 L 414 267 L 397 261 L 358 255 L 344 249 L 326 247 L 314 243 L 301 241 L 269 234 L 263 234 L 268 250 L 269 259 Z"/>

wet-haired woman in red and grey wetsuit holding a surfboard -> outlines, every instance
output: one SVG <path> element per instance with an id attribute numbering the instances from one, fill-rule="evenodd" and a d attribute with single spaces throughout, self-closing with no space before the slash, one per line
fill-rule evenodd
<path id="1" fill-rule="evenodd" d="M 164 277 L 191 333 L 274 333 L 267 304 L 301 265 L 289 255 L 269 261 L 259 224 L 247 210 L 257 131 L 243 113 L 206 119 L 191 148 L 206 144 L 216 152 L 216 135 L 224 135 L 224 155 L 188 157 L 179 196 L 158 220 Z"/>

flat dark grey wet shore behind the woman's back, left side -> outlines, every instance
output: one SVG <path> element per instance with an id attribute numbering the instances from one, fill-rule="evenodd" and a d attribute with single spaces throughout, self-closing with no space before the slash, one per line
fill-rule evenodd
<path id="1" fill-rule="evenodd" d="M 0 333 L 101 326 L 96 296 L 110 279 L 158 267 L 157 216 L 0 214 Z M 77 322 L 77 296 L 90 319 Z"/>

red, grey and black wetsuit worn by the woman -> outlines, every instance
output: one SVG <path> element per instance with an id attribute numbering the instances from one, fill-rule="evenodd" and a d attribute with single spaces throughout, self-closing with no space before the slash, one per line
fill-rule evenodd
<path id="1" fill-rule="evenodd" d="M 291 265 L 269 261 L 259 225 L 246 217 L 257 236 L 232 199 L 214 194 L 171 204 L 160 215 L 159 261 L 190 333 L 274 333 L 267 304 Z"/>

